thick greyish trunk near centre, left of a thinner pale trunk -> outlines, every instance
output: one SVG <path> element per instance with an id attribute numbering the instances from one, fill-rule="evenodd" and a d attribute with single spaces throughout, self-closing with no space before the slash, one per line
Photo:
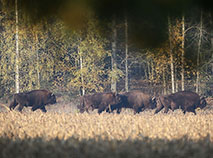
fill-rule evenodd
<path id="1" fill-rule="evenodd" d="M 116 92 L 117 89 L 117 83 L 116 83 L 116 74 L 115 71 L 117 69 L 116 64 L 116 39 L 117 39 L 117 29 L 116 29 L 116 18 L 115 15 L 113 17 L 112 21 L 112 56 L 111 56 L 111 66 L 112 66 L 112 79 L 111 79 L 111 91 Z"/>

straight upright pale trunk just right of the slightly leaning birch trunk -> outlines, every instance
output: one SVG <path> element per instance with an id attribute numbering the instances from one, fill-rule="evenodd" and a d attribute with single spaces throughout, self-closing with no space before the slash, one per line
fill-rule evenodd
<path id="1" fill-rule="evenodd" d="M 182 53 L 181 53 L 181 90 L 184 91 L 185 90 L 185 81 L 184 81 L 184 63 L 185 63 L 185 51 L 184 51 L 184 46 L 185 45 L 185 17 L 184 15 L 182 16 L 182 43 L 181 43 L 181 47 L 182 47 Z"/>

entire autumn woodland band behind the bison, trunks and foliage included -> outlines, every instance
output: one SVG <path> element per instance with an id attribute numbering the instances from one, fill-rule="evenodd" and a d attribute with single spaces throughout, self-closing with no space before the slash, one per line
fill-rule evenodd
<path id="1" fill-rule="evenodd" d="M 210 11 L 194 7 L 179 16 L 168 14 L 166 40 L 145 47 L 132 42 L 134 28 L 125 14 L 102 24 L 90 13 L 84 27 L 75 29 L 54 15 L 32 24 L 18 3 L 13 9 L 0 3 L 1 98 L 40 88 L 68 96 L 132 89 L 213 95 Z"/>

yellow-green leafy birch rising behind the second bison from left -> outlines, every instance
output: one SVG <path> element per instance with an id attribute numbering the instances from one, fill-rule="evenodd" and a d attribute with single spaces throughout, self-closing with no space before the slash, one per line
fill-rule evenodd
<path id="1" fill-rule="evenodd" d="M 105 68 L 104 63 L 104 59 L 109 56 L 109 52 L 105 50 L 107 41 L 97 31 L 95 19 L 88 21 L 87 26 L 85 32 L 77 34 L 74 54 L 78 64 L 69 86 L 77 89 L 84 87 L 88 92 L 103 91 L 109 83 L 107 78 L 109 70 Z"/>

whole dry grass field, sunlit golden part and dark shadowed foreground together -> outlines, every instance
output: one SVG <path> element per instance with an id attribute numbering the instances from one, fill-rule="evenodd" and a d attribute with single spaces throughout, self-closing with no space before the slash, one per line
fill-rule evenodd
<path id="1" fill-rule="evenodd" d="M 78 113 L 75 103 L 47 113 L 0 109 L 0 158 L 212 158 L 213 100 L 197 115 Z"/>

